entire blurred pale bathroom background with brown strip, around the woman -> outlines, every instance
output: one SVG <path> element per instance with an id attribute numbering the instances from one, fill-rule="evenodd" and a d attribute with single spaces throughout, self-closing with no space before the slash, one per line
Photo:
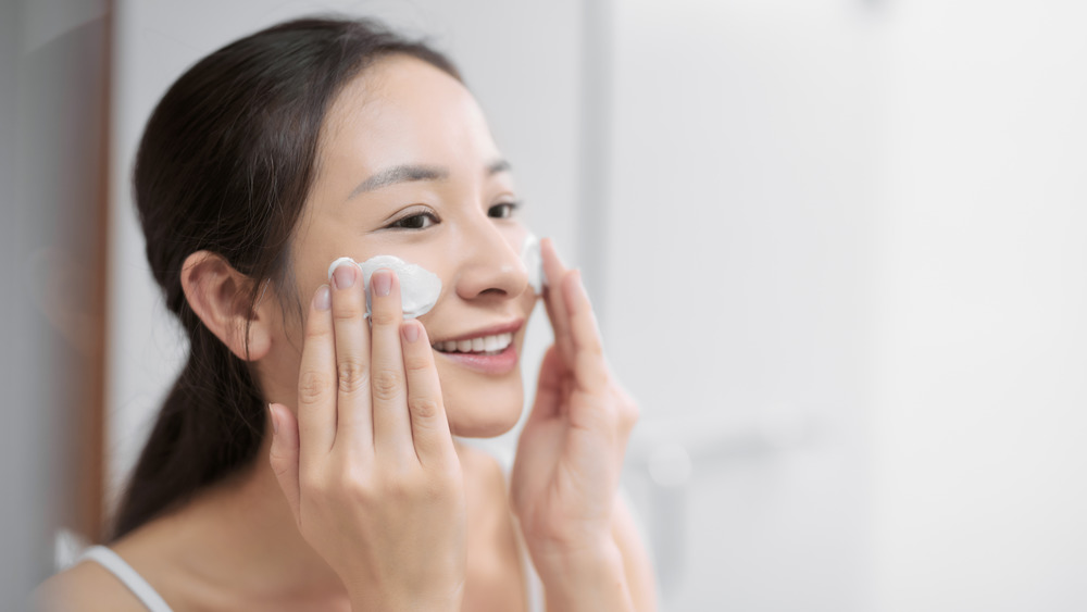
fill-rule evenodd
<path id="1" fill-rule="evenodd" d="M 100 537 L 186 351 L 129 193 L 153 104 L 336 11 L 452 55 L 584 268 L 642 409 L 624 485 L 662 610 L 1087 610 L 1087 4 L 0 11 L 0 608 L 58 529 Z M 529 389 L 549 340 L 537 316 Z"/>

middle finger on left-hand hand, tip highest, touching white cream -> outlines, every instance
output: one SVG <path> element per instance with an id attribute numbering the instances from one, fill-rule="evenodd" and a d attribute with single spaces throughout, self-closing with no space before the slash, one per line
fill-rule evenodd
<path id="1" fill-rule="evenodd" d="M 370 327 L 362 270 L 351 260 L 333 270 L 333 322 L 336 326 L 336 441 L 370 452 L 374 424 L 370 400 Z"/>

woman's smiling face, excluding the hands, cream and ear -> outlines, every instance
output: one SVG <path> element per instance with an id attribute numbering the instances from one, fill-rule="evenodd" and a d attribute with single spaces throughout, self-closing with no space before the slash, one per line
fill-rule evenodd
<path id="1" fill-rule="evenodd" d="M 441 295 L 420 317 L 432 345 L 508 330 L 518 357 L 498 360 L 435 350 L 450 427 L 508 430 L 521 415 L 520 354 L 536 296 L 520 258 L 527 232 L 512 214 L 512 176 L 473 97 L 423 61 L 383 59 L 329 109 L 316 168 L 292 243 L 302 302 L 340 257 L 390 254 L 437 274 Z M 272 399 L 293 405 L 302 323 L 280 321 L 261 370 L 272 370 Z"/>

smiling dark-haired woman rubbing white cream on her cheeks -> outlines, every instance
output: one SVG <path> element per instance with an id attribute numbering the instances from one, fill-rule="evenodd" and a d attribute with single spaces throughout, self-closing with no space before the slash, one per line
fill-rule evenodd
<path id="1" fill-rule="evenodd" d="M 637 411 L 548 240 L 555 344 L 509 491 L 451 437 L 516 423 L 537 295 L 509 165 L 443 57 L 365 21 L 238 40 L 165 95 L 134 184 L 191 354 L 110 542 L 132 586 L 83 562 L 47 607 L 520 610 L 522 546 L 549 609 L 654 607 L 616 496 Z M 429 312 L 403 317 L 392 270 L 368 315 L 358 266 L 327 272 L 379 254 L 439 277 Z"/>

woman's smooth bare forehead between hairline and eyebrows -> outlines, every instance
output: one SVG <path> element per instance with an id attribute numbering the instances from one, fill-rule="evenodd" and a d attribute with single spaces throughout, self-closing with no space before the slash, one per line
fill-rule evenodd
<path id="1" fill-rule="evenodd" d="M 401 163 L 477 171 L 498 154 L 468 90 L 408 55 L 383 58 L 349 82 L 325 117 L 321 140 L 323 170 L 354 174 Z"/>

